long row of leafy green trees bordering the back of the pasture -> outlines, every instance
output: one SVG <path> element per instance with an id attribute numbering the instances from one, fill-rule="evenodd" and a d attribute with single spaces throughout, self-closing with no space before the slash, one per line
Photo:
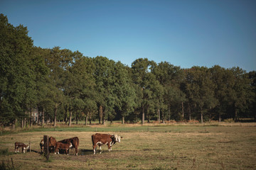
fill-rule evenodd
<path id="1" fill-rule="evenodd" d="M 1 126 L 46 120 L 221 121 L 256 119 L 256 72 L 240 67 L 181 69 L 139 58 L 129 67 L 107 57 L 33 45 L 25 26 L 0 14 Z"/>

